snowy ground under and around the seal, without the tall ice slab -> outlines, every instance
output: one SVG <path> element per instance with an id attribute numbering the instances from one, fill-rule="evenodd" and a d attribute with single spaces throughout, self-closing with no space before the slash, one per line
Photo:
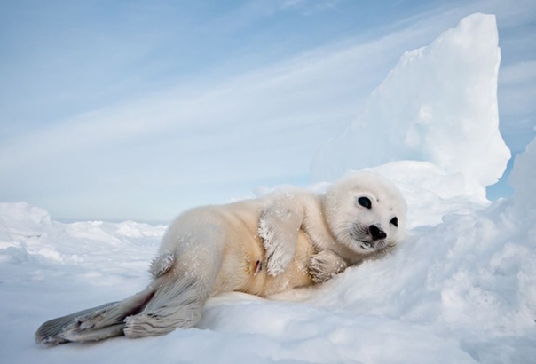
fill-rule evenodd
<path id="1" fill-rule="evenodd" d="M 532 172 L 533 146 L 517 157 L 512 176 Z M 512 179 L 516 193 L 532 186 Z M 437 221 L 416 221 L 385 259 L 272 299 L 214 297 L 198 328 L 53 349 L 33 343 L 35 328 L 142 289 L 164 226 L 60 224 L 41 209 L 2 203 L 0 255 L 8 258 L 0 260 L 0 351 L 10 363 L 531 363 L 536 206 L 516 196 L 491 205 L 459 198 L 453 210 L 408 189 L 414 218 L 431 210 Z M 57 255 L 41 254 L 44 246 Z"/>

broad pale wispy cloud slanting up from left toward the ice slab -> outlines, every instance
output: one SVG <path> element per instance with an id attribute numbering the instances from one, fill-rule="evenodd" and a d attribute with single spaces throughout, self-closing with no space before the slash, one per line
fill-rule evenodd
<path id="1" fill-rule="evenodd" d="M 18 184 L 17 199 L 49 190 L 55 197 L 47 203 L 70 201 L 87 210 L 99 200 L 109 204 L 118 191 L 148 202 L 174 188 L 180 205 L 164 202 L 168 212 L 200 203 L 193 191 L 208 182 L 217 189 L 249 181 L 235 195 L 266 180 L 304 183 L 311 155 L 353 118 L 359 99 L 396 62 L 398 55 L 385 51 L 402 51 L 412 36 L 320 49 L 217 83 L 185 83 L 69 117 L 3 143 L 0 164 L 8 178 L 0 185 L 7 191 Z M 99 194 L 83 192 L 96 188 Z M 129 205 L 139 202 L 118 203 L 132 211 Z"/>

